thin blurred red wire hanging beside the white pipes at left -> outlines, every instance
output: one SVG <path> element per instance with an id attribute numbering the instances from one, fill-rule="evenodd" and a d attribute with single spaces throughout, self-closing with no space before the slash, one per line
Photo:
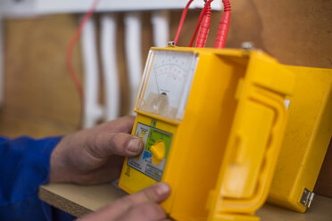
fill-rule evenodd
<path id="1" fill-rule="evenodd" d="M 72 50 L 76 43 L 79 41 L 79 37 L 81 36 L 84 27 L 87 24 L 87 21 L 90 20 L 92 14 L 95 12 L 95 8 L 100 0 L 94 0 L 91 8 L 87 11 L 87 13 L 84 15 L 83 19 L 79 23 L 79 29 L 76 30 L 75 35 L 71 38 L 71 42 L 67 47 L 67 54 L 66 54 L 66 63 L 67 63 L 67 69 L 69 70 L 69 73 L 71 75 L 72 81 L 74 82 L 77 90 L 79 91 L 79 97 L 80 97 L 80 103 L 81 107 L 84 106 L 84 92 L 83 87 L 79 82 L 79 78 L 77 77 L 74 68 L 72 67 L 71 63 L 71 57 L 72 57 Z"/>

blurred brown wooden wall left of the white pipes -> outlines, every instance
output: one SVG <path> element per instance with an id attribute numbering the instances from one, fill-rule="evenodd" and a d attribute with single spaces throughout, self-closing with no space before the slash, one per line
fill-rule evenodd
<path id="1" fill-rule="evenodd" d="M 65 64 L 77 20 L 71 15 L 4 20 L 4 106 L 0 134 L 43 137 L 79 125 L 79 95 Z M 72 58 L 81 76 L 79 47 Z"/>

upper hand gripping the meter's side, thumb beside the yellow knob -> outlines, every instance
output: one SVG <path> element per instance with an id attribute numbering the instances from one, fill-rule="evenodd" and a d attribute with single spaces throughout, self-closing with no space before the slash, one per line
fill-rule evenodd
<path id="1" fill-rule="evenodd" d="M 143 141 L 129 135 L 134 120 L 123 117 L 63 137 L 51 155 L 50 183 L 99 184 L 120 176 L 123 157 L 143 149 Z"/>

